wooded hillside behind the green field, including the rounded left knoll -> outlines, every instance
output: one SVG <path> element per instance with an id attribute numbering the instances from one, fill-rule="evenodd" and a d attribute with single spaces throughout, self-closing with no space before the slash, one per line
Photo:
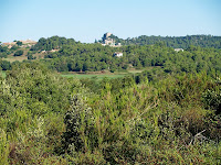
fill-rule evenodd
<path id="1" fill-rule="evenodd" d="M 211 36 L 211 38 L 213 37 Z M 212 69 L 220 72 L 221 50 L 208 46 L 190 45 L 183 52 L 176 52 L 172 47 L 161 42 L 154 45 L 110 47 L 102 46 L 98 43 L 83 44 L 71 38 L 52 36 L 50 38 L 40 38 L 25 53 L 29 59 L 23 61 L 23 63 L 31 63 L 36 58 L 48 68 L 57 72 L 108 70 L 114 73 L 127 70 L 128 68 L 143 69 L 156 66 L 164 68 L 166 73 L 199 73 L 201 70 L 211 72 Z M 122 52 L 123 57 L 115 57 L 115 52 Z M 41 57 L 44 57 L 44 59 Z M 12 59 L 10 58 L 10 61 Z M 8 70 L 17 62 L 9 64 L 6 61 L 1 61 L 0 64 L 3 70 Z"/>

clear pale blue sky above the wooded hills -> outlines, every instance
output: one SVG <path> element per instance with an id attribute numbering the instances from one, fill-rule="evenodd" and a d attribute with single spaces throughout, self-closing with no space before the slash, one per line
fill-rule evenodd
<path id="1" fill-rule="evenodd" d="M 0 0 L 0 42 L 221 35 L 221 0 Z"/>

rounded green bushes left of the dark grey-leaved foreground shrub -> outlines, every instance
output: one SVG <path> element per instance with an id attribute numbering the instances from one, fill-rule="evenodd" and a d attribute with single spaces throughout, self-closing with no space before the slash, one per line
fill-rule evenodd
<path id="1" fill-rule="evenodd" d="M 80 82 L 71 82 L 39 64 L 23 64 L 9 72 L 0 84 L 0 128 L 8 136 L 1 142 L 6 144 L 2 156 L 10 156 L 12 164 L 46 161 L 61 147 L 63 116 L 71 92 Z"/>

